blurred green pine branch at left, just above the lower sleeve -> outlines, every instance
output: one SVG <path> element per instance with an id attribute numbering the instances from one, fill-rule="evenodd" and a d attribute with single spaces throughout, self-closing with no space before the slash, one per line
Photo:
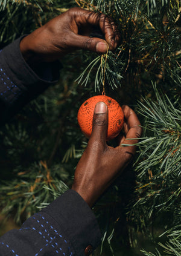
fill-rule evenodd
<path id="1" fill-rule="evenodd" d="M 35 176 L 36 173 L 36 176 Z M 9 215 L 14 210 L 14 220 L 21 223 L 21 217 L 30 217 L 43 206 L 57 198 L 68 189 L 63 182 L 69 174 L 60 165 L 48 169 L 45 162 L 34 163 L 27 170 L 21 166 L 13 170 L 13 179 L 1 183 L 1 205 L 5 205 L 2 214 Z M 55 193 L 56 191 L 56 193 Z"/>

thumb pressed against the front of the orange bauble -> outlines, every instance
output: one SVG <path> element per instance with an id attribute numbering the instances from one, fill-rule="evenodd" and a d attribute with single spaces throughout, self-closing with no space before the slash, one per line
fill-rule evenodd
<path id="1" fill-rule="evenodd" d="M 92 122 L 91 140 L 97 140 L 106 143 L 108 126 L 108 110 L 104 102 L 98 102 L 95 105 Z"/>

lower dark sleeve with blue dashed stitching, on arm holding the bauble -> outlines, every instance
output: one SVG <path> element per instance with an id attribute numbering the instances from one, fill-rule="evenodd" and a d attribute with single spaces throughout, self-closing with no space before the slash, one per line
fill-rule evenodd
<path id="1" fill-rule="evenodd" d="M 97 220 L 80 195 L 69 189 L 22 225 L 0 238 L 0 255 L 89 255 L 100 243 Z"/>

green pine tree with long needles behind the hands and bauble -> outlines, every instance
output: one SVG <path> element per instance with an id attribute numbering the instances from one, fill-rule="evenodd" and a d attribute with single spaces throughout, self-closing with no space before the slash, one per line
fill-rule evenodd
<path id="1" fill-rule="evenodd" d="M 87 144 L 78 108 L 101 94 L 105 66 L 106 95 L 135 110 L 143 134 L 132 167 L 94 206 L 103 233 L 95 255 L 180 255 L 180 1 L 0 0 L 1 48 L 77 6 L 112 17 L 119 45 L 107 61 L 66 56 L 60 81 L 1 128 L 2 214 L 21 225 L 71 187 Z"/>

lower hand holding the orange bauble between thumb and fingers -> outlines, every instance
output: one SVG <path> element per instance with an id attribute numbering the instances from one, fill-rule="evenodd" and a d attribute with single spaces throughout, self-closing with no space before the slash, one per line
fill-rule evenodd
<path id="1" fill-rule="evenodd" d="M 86 150 L 75 170 L 72 189 L 92 207 L 101 194 L 121 174 L 132 160 L 141 136 L 141 124 L 135 112 L 123 106 L 125 136 L 119 136 L 118 146 L 113 148 L 106 143 L 108 111 L 103 102 L 98 102 L 93 117 L 92 134 Z M 122 143 L 130 146 L 121 146 Z"/>

